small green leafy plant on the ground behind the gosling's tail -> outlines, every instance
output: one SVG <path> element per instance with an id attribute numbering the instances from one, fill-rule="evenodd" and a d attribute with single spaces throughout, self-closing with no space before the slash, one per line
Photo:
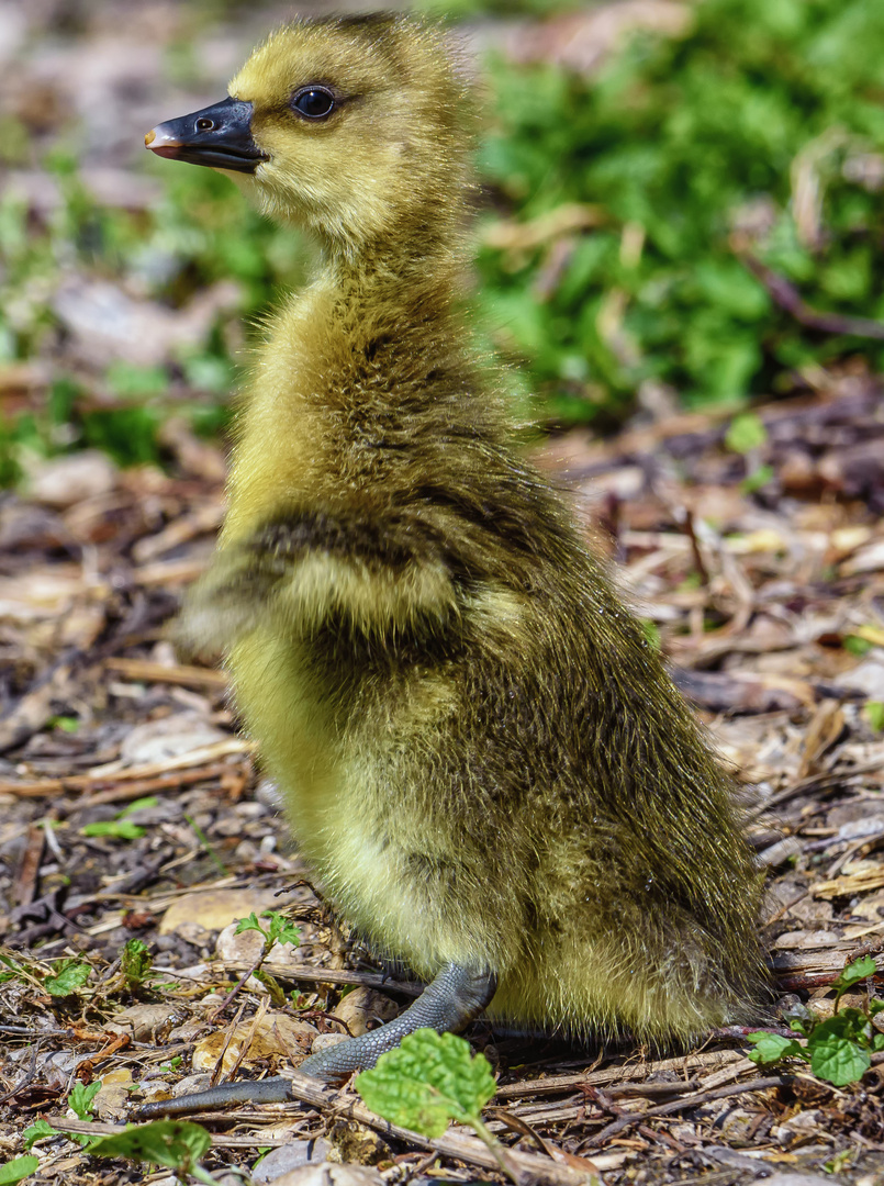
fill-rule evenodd
<path id="1" fill-rule="evenodd" d="M 800 1058 L 827 1083 L 839 1088 L 858 1083 L 872 1065 L 872 1054 L 884 1050 L 884 1033 L 879 1033 L 872 1021 L 884 1010 L 884 1000 L 873 997 L 865 1009 L 839 1010 L 839 1006 L 847 989 L 873 976 L 875 971 L 871 956 L 856 959 L 835 981 L 835 1005 L 831 1018 L 825 1021 L 809 1015 L 793 1019 L 789 1028 L 803 1041 L 767 1031 L 749 1034 L 749 1041 L 755 1047 L 749 1054 L 751 1060 L 767 1066 L 784 1058 Z"/>

